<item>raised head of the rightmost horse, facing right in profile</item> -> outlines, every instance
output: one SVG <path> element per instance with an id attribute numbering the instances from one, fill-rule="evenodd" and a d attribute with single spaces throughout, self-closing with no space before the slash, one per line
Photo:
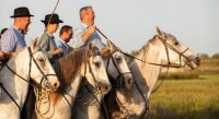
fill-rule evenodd
<path id="1" fill-rule="evenodd" d="M 161 52 L 162 63 L 170 67 L 189 67 L 195 69 L 200 64 L 200 58 L 194 53 L 188 47 L 178 43 L 173 35 L 165 34 L 159 28 L 158 35 L 154 37 L 158 44 L 157 50 Z"/>

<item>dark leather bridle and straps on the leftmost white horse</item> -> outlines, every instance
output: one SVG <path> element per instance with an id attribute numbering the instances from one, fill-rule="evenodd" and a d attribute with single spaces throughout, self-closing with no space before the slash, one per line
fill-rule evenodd
<path id="1" fill-rule="evenodd" d="M 30 67 L 28 67 L 28 80 L 23 78 L 21 74 L 16 73 L 15 71 L 13 71 L 9 66 L 8 63 L 5 63 L 5 67 L 9 69 L 9 71 L 11 71 L 13 74 L 15 74 L 16 76 L 19 76 L 21 80 L 23 80 L 24 82 L 28 83 L 30 85 L 32 85 L 33 87 L 36 87 L 36 88 L 42 88 L 44 90 L 47 85 L 48 85 L 48 78 L 47 76 L 51 76 L 51 75 L 55 75 L 56 74 L 45 74 L 43 72 L 43 70 L 41 69 L 41 67 L 38 66 L 38 63 L 36 62 L 35 58 L 33 57 L 34 53 L 32 52 L 31 50 L 31 47 L 27 47 L 28 49 L 28 53 L 30 53 Z M 35 63 L 35 66 L 37 67 L 37 69 L 39 70 L 39 72 L 42 73 L 43 78 L 41 80 L 41 84 L 36 84 L 36 83 L 32 83 L 30 82 L 30 79 L 31 79 L 31 68 L 32 68 L 32 62 Z M 43 81 L 45 79 L 45 83 L 44 83 L 44 87 L 43 87 Z M 0 83 L 0 86 L 3 88 L 3 91 L 7 93 L 7 95 L 9 95 L 9 97 L 14 102 L 14 104 L 18 106 L 18 108 L 20 109 L 20 111 L 22 110 L 21 107 L 19 106 L 19 104 L 15 102 L 15 99 L 11 96 L 11 94 L 7 91 L 7 88 L 3 86 L 2 83 Z"/>

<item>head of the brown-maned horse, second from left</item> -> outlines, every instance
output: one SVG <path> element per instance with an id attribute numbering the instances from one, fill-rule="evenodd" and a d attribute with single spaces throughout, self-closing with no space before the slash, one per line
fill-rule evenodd
<path id="1" fill-rule="evenodd" d="M 111 90 L 111 83 L 106 74 L 103 58 L 96 47 L 89 44 L 87 49 L 88 61 L 83 71 L 88 82 L 95 87 L 99 94 L 106 94 Z"/>

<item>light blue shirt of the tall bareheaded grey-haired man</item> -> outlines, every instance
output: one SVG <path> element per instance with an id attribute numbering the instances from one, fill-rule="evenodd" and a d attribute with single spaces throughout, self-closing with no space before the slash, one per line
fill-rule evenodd
<path id="1" fill-rule="evenodd" d="M 99 49 L 105 47 L 96 32 L 91 34 L 85 43 L 82 40 L 82 35 L 87 32 L 87 27 L 88 25 L 84 23 L 81 23 L 78 27 L 76 27 L 73 29 L 73 38 L 70 40 L 69 45 L 73 48 L 79 48 L 82 46 L 87 46 L 89 43 L 92 43 Z"/>

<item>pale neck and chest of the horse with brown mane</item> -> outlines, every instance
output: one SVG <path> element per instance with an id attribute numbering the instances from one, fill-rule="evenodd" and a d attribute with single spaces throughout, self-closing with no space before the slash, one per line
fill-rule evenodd
<path id="1" fill-rule="evenodd" d="M 78 88 L 81 83 L 81 76 L 77 74 L 71 80 L 70 85 L 67 86 L 64 95 L 55 104 L 54 98 L 45 98 L 45 102 L 39 105 L 37 117 L 50 118 L 50 119 L 69 119 L 71 116 L 71 108 L 77 95 Z M 65 97 L 62 97 L 65 96 Z M 60 115 L 61 112 L 66 115 Z"/>

